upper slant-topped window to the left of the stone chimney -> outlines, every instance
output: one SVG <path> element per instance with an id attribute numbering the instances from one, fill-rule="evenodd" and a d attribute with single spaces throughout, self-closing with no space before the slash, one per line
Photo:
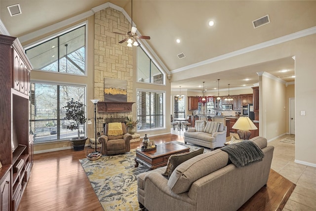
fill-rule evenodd
<path id="1" fill-rule="evenodd" d="M 85 75 L 85 25 L 28 48 L 36 70 Z"/>

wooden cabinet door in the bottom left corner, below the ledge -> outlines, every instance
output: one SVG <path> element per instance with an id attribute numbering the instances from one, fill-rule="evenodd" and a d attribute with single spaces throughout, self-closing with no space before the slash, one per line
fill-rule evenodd
<path id="1" fill-rule="evenodd" d="M 10 211 L 11 203 L 11 175 L 6 173 L 0 184 L 0 211 Z"/>

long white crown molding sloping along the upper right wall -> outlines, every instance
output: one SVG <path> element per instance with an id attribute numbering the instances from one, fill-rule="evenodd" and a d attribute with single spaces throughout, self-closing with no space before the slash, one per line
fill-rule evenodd
<path id="1" fill-rule="evenodd" d="M 213 58 L 210 58 L 210 59 L 206 59 L 204 61 L 200 61 L 200 62 L 197 62 L 195 64 L 191 64 L 191 65 L 188 65 L 188 66 L 185 66 L 185 67 L 181 67 L 181 68 L 178 68 L 178 69 L 175 69 L 175 70 L 171 70 L 170 72 L 171 73 L 178 73 L 178 72 L 181 72 L 181 71 L 189 70 L 189 69 L 192 69 L 192 68 L 195 68 L 195 67 L 199 67 L 199 66 L 210 64 L 210 63 L 217 62 L 217 61 L 220 61 L 220 60 L 228 59 L 228 58 L 231 58 L 231 57 L 234 57 L 234 56 L 237 56 L 237 55 L 241 55 L 241 54 L 248 53 L 248 52 L 251 52 L 251 51 L 255 51 L 255 50 L 262 49 L 262 48 L 270 47 L 272 45 L 276 45 L 276 44 L 280 44 L 280 43 L 283 43 L 283 42 L 295 40 L 295 39 L 306 37 L 306 36 L 313 35 L 313 34 L 316 34 L 316 27 L 311 27 L 311 28 L 308 28 L 308 29 L 305 29 L 305 30 L 302 30 L 302 31 L 299 31 L 299 32 L 295 32 L 295 33 L 292 33 L 292 34 L 289 34 L 289 35 L 285 35 L 283 37 L 279 37 L 279 38 L 270 40 L 270 41 L 262 42 L 262 43 L 255 44 L 255 45 L 252 45 L 252 46 L 249 46 L 249 47 L 245 47 L 245 48 L 242 48 L 242 49 L 239 49 L 239 50 L 236 50 L 236 51 L 233 51 L 233 52 L 229 52 L 229 53 L 226 53 L 226 54 L 223 54 L 223 55 L 220 55 L 220 56 L 216 56 L 216 57 L 213 57 Z"/>

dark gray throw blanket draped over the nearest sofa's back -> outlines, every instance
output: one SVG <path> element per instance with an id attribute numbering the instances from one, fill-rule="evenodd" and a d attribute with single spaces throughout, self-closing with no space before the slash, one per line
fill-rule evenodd
<path id="1" fill-rule="evenodd" d="M 237 168 L 247 166 L 252 162 L 262 161 L 262 158 L 265 157 L 260 147 L 248 140 L 227 145 L 221 150 L 228 154 L 230 161 Z"/>

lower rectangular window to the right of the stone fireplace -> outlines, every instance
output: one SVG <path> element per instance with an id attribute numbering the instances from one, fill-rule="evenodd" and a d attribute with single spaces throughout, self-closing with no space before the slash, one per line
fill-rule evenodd
<path id="1" fill-rule="evenodd" d="M 137 91 L 138 130 L 162 128 L 164 93 L 159 91 Z"/>

